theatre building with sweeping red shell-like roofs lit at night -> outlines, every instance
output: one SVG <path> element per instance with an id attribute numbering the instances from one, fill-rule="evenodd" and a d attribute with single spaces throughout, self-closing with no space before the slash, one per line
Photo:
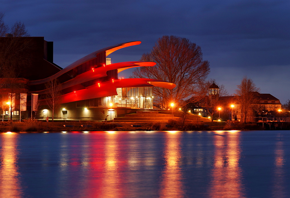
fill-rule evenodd
<path id="1" fill-rule="evenodd" d="M 11 115 L 12 119 L 20 119 L 20 116 L 21 119 L 51 119 L 54 109 L 55 119 L 110 120 L 126 113 L 152 109 L 154 86 L 175 87 L 173 83 L 158 79 L 118 78 L 118 73 L 125 69 L 155 65 L 140 61 L 111 64 L 107 56 L 118 49 L 140 44 L 140 41 L 97 50 L 62 69 L 53 63 L 52 42 L 43 37 L 0 37 L 0 47 L 3 41 L 7 44 L 13 39 L 29 43 L 25 53 L 31 58 L 17 78 L 2 75 L 0 79 L 3 119 Z M 16 89 L 12 88 L 18 85 L 13 92 Z M 51 105 L 52 101 L 55 105 Z"/>

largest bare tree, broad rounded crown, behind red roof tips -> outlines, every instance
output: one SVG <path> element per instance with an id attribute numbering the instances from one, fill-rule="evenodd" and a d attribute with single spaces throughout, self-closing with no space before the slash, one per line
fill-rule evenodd
<path id="1" fill-rule="evenodd" d="M 132 77 L 159 79 L 176 85 L 171 90 L 153 87 L 154 99 L 162 108 L 195 94 L 196 84 L 204 81 L 210 72 L 209 62 L 202 60 L 201 48 L 177 36 L 159 38 L 151 52 L 144 53 L 140 60 L 156 65 L 138 67 Z"/>

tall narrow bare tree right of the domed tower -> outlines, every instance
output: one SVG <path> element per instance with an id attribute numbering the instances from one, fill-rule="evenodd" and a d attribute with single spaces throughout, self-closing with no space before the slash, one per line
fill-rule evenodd
<path id="1" fill-rule="evenodd" d="M 248 79 L 247 76 L 244 76 L 241 84 L 237 85 L 236 89 L 236 98 L 238 108 L 240 110 L 241 122 L 247 120 L 247 116 L 253 110 L 254 100 L 257 98 L 257 92 L 260 91 L 260 88 L 257 88 L 252 79 Z"/>

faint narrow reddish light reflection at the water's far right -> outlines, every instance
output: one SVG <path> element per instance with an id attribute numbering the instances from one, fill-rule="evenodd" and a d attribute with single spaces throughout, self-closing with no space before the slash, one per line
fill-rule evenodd
<path id="1" fill-rule="evenodd" d="M 285 154 L 284 154 L 284 142 L 277 141 L 275 146 L 275 163 L 273 173 L 273 197 L 288 197 L 287 189 L 285 188 Z"/>

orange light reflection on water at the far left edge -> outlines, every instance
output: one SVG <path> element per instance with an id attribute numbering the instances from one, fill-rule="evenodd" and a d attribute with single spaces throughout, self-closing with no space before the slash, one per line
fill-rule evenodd
<path id="1" fill-rule="evenodd" d="M 15 133 L 2 133 L 1 136 L 0 197 L 22 197 L 17 167 L 17 139 Z"/>

